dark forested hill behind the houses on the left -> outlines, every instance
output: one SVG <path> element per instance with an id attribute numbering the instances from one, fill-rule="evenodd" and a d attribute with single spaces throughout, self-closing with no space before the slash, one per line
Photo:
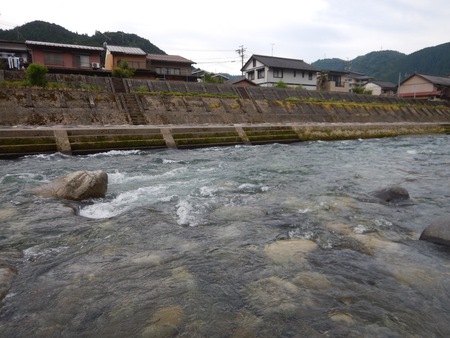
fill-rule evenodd
<path id="1" fill-rule="evenodd" d="M 94 35 L 73 33 L 59 25 L 44 21 L 33 21 L 23 26 L 9 30 L 0 29 L 2 40 L 35 40 L 55 43 L 67 43 L 101 47 L 104 42 L 110 45 L 140 47 L 143 51 L 153 54 L 166 54 L 149 40 L 136 34 L 124 32 L 95 32 Z"/>

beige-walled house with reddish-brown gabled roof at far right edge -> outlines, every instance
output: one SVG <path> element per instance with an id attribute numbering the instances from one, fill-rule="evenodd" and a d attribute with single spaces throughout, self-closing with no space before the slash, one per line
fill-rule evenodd
<path id="1" fill-rule="evenodd" d="M 450 99 L 450 77 L 414 73 L 400 83 L 400 97 L 417 99 Z"/>

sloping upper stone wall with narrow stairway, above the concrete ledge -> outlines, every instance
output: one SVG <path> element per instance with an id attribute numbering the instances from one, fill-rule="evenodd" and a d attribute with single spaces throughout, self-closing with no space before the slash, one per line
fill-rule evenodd
<path id="1" fill-rule="evenodd" d="M 450 122 L 450 106 L 443 103 L 252 96 L 256 98 L 0 88 L 0 125 Z"/>

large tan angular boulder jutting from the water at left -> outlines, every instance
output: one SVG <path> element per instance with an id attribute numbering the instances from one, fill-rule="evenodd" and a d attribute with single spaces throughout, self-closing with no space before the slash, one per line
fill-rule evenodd
<path id="1" fill-rule="evenodd" d="M 108 174 L 104 171 L 76 171 L 59 177 L 36 189 L 44 197 L 57 197 L 73 201 L 105 197 Z"/>

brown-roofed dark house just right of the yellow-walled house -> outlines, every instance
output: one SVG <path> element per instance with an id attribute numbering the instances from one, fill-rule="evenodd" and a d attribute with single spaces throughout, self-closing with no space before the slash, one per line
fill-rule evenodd
<path id="1" fill-rule="evenodd" d="M 179 55 L 147 54 L 146 68 L 156 73 L 156 78 L 164 80 L 196 81 L 192 75 L 194 61 Z"/>

